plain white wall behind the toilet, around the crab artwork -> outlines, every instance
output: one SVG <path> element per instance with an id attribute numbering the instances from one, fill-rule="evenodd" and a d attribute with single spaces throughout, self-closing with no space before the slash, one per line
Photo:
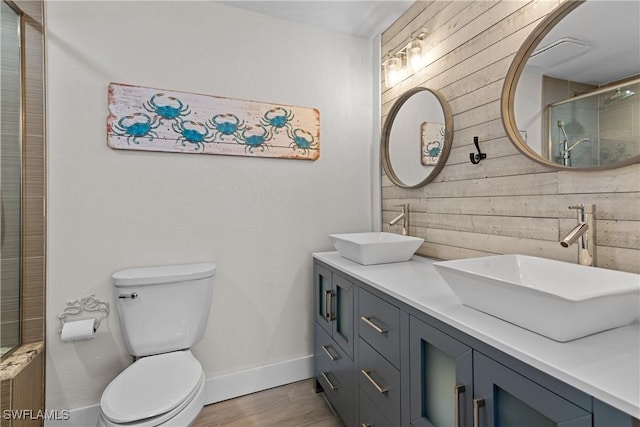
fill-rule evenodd
<path id="1" fill-rule="evenodd" d="M 130 363 L 125 267 L 217 263 L 207 377 L 311 354 L 311 253 L 372 228 L 371 41 L 199 1 L 54 1 L 46 18 L 47 408 L 97 403 Z M 111 150 L 109 82 L 318 108 L 320 159 Z M 56 314 L 90 293 L 111 316 L 61 344 Z"/>

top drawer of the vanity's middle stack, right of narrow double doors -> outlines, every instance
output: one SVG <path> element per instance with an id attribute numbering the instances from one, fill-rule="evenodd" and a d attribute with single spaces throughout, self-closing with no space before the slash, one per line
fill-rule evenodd
<path id="1" fill-rule="evenodd" d="M 359 290 L 359 333 L 396 368 L 400 368 L 400 309 Z"/>

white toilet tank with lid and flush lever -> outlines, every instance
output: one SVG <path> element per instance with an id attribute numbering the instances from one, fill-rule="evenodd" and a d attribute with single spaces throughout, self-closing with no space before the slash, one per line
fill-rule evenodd
<path id="1" fill-rule="evenodd" d="M 213 263 L 130 268 L 115 272 L 116 306 L 133 356 L 191 348 L 209 319 Z"/>

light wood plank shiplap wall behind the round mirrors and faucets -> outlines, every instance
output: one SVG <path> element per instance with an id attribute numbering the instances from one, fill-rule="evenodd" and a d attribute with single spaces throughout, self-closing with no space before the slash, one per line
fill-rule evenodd
<path id="1" fill-rule="evenodd" d="M 434 181 L 403 189 L 382 177 L 383 230 L 396 205 L 411 204 L 418 254 L 439 259 L 519 253 L 577 262 L 559 239 L 576 224 L 570 204 L 596 205 L 598 265 L 640 273 L 640 165 L 557 171 L 522 155 L 506 135 L 500 98 L 527 36 L 560 1 L 417 1 L 382 35 L 382 53 L 428 31 L 430 64 L 382 92 L 382 120 L 406 90 L 440 91 L 454 115 L 451 154 Z M 469 162 L 478 136 L 487 159 Z"/>

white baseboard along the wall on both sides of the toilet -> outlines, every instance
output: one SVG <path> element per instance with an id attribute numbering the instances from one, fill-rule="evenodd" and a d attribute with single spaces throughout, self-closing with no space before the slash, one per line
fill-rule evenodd
<path id="1" fill-rule="evenodd" d="M 313 377 L 313 355 L 208 378 L 205 405 Z M 66 420 L 45 420 L 45 427 L 88 427 L 96 425 L 100 405 L 69 410 Z M 65 417 L 66 418 L 66 417 Z"/>

